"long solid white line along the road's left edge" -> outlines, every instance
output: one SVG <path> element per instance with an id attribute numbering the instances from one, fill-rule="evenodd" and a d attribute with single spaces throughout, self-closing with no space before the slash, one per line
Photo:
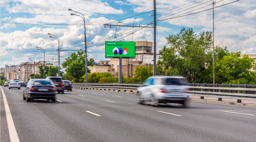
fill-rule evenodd
<path id="1" fill-rule="evenodd" d="M 8 102 L 7 102 L 7 99 L 5 97 L 2 87 L 1 87 L 1 90 L 2 90 L 2 94 L 3 94 L 3 102 L 4 102 L 5 113 L 6 113 L 7 125 L 8 125 L 8 129 L 9 129 L 10 140 L 11 140 L 11 142 L 19 142 L 19 137 L 18 137 L 18 134 L 16 132 L 16 129 L 15 129 L 15 126 L 13 123 L 11 111 L 8 106 Z"/>

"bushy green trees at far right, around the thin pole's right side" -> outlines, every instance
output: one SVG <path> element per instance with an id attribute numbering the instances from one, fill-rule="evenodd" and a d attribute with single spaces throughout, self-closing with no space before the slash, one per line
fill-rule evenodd
<path id="1" fill-rule="evenodd" d="M 256 84 L 254 59 L 241 52 L 226 52 L 221 60 L 214 62 L 214 83 Z M 213 83 L 213 65 L 202 72 L 203 83 Z"/>

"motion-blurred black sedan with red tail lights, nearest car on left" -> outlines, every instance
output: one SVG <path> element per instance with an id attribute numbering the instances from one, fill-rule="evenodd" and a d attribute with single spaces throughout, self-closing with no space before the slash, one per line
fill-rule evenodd
<path id="1" fill-rule="evenodd" d="M 47 99 L 55 102 L 56 86 L 49 79 L 30 79 L 28 85 L 23 89 L 23 100 L 29 102 L 31 99 Z"/>

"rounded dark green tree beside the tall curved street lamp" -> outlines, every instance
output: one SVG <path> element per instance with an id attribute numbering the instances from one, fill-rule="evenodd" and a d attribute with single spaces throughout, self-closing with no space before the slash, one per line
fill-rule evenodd
<path id="1" fill-rule="evenodd" d="M 67 73 L 67 78 L 73 82 L 79 82 L 80 78 L 86 74 L 85 69 L 85 51 L 78 51 L 77 53 L 71 53 L 70 56 L 65 59 L 62 63 L 63 68 Z M 93 66 L 94 59 L 87 59 L 87 66 Z M 90 70 L 87 68 L 87 72 L 90 73 Z"/>

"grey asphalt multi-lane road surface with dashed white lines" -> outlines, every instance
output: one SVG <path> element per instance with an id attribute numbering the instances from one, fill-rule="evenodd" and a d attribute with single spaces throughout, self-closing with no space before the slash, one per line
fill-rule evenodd
<path id="1" fill-rule="evenodd" d="M 85 90 L 26 102 L 23 88 L 2 89 L 20 142 L 256 141 L 255 108 L 193 101 L 156 108 L 132 94 Z M 0 102 L 0 141 L 9 142 L 2 91 Z"/>

